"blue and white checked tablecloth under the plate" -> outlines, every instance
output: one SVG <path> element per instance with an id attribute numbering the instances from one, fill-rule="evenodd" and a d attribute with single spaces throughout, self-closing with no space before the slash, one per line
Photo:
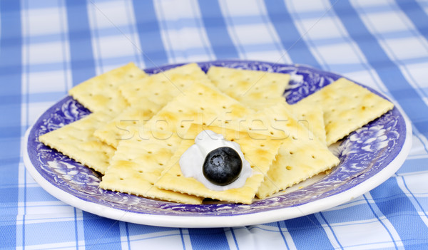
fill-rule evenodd
<path id="1" fill-rule="evenodd" d="M 387 95 L 413 145 L 386 182 L 270 224 L 118 222 L 52 197 L 26 172 L 24 132 L 68 90 L 141 68 L 239 58 L 333 71 Z M 0 248 L 428 249 L 428 1 L 0 1 Z"/>

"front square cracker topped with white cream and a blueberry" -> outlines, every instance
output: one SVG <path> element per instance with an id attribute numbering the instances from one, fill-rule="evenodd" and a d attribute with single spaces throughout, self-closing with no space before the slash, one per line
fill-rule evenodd
<path id="1" fill-rule="evenodd" d="M 194 144 L 194 138 L 203 130 L 212 130 L 213 132 L 222 134 L 225 140 L 233 140 L 240 145 L 245 159 L 250 162 L 253 169 L 253 175 L 248 177 L 243 187 L 215 191 L 208 189 L 193 177 L 184 177 L 182 175 L 178 161 L 185 150 L 188 150 Z M 280 140 L 277 140 L 275 137 L 265 136 L 264 140 L 255 140 L 248 132 L 238 132 L 223 127 L 205 127 L 197 124 L 189 127 L 185 137 L 193 140 L 183 140 L 181 142 L 174 155 L 170 158 L 161 177 L 155 183 L 155 186 L 199 197 L 243 204 L 250 204 L 253 201 L 255 192 L 257 192 L 260 183 L 263 181 L 263 177 L 266 175 L 267 170 L 269 170 L 270 165 L 272 165 L 272 160 L 275 159 L 275 155 L 277 155 L 277 150 L 281 144 Z"/>

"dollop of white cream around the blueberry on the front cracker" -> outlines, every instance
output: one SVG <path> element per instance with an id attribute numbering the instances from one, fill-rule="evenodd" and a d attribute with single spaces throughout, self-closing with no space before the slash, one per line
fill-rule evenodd
<path id="1" fill-rule="evenodd" d="M 243 168 L 240 172 L 238 179 L 225 186 L 213 184 L 203 175 L 203 162 L 209 152 L 217 149 L 218 147 L 231 147 L 238 152 L 240 159 L 243 162 Z M 205 187 L 215 191 L 224 191 L 233 188 L 243 187 L 247 178 L 253 175 L 250 162 L 245 160 L 244 154 L 240 149 L 240 145 L 236 142 L 225 140 L 223 135 L 217 134 L 212 130 L 203 130 L 195 137 L 195 144 L 190 146 L 178 162 L 181 172 L 185 177 L 193 177 Z"/>

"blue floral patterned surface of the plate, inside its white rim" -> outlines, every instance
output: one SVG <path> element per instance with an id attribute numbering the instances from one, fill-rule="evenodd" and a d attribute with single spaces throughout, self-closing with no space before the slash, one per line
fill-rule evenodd
<path id="1" fill-rule="evenodd" d="M 285 90 L 288 103 L 296 103 L 325 85 L 342 77 L 307 66 L 284 65 L 260 61 L 210 61 L 198 63 L 208 71 L 210 66 L 225 66 L 257 71 L 290 73 L 292 80 Z M 179 65 L 147 69 L 158 73 Z M 369 88 L 374 93 L 376 91 Z M 377 93 L 379 94 L 379 93 Z M 340 165 L 317 182 L 294 192 L 278 194 L 253 204 L 203 204 L 188 205 L 146 199 L 132 194 L 111 192 L 98 188 L 101 176 L 74 160 L 39 142 L 39 135 L 55 130 L 83 118 L 90 112 L 67 96 L 41 115 L 29 131 L 27 153 L 37 172 L 54 187 L 68 194 L 100 206 L 120 209 L 128 213 L 159 214 L 171 216 L 233 216 L 254 214 L 302 204 L 345 192 L 365 182 L 387 167 L 399 154 L 406 140 L 406 124 L 397 108 L 381 118 L 352 132 L 335 147 Z"/>

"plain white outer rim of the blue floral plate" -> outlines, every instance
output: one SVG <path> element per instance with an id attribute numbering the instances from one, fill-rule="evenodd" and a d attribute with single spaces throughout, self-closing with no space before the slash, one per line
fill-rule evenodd
<path id="1" fill-rule="evenodd" d="M 222 63 L 267 63 L 270 65 L 276 66 L 286 66 L 286 67 L 295 67 L 295 68 L 305 68 L 309 71 L 316 71 L 319 73 L 323 73 L 326 75 L 335 75 L 340 76 L 336 73 L 331 73 L 327 71 L 320 71 L 315 68 L 311 68 L 310 66 L 300 66 L 300 65 L 287 65 L 282 63 L 269 63 L 262 61 L 241 61 L 241 60 L 221 60 L 221 61 L 208 61 L 208 62 L 200 62 L 200 65 L 213 65 L 222 64 Z M 160 68 L 173 68 L 175 66 L 180 66 L 184 63 L 177 63 L 167 66 L 161 66 Z M 158 67 L 159 68 L 159 67 Z M 145 71 L 156 72 L 158 68 L 151 68 Z M 368 88 L 367 86 L 365 86 Z M 372 90 L 371 88 L 369 88 Z M 376 91 L 372 90 L 377 93 Z M 379 94 L 379 93 L 377 93 Z M 379 94 L 381 95 L 381 94 Z M 384 95 L 381 95 L 384 97 Z M 63 98 L 65 99 L 65 98 Z M 61 100 L 63 100 L 61 99 Z M 58 104 L 58 101 L 56 104 Z M 49 109 L 53 108 L 56 104 L 52 105 Z M 65 192 L 62 189 L 56 187 L 53 183 L 49 182 L 49 180 L 45 179 L 39 170 L 31 162 L 29 156 L 29 135 L 31 130 L 34 128 L 34 125 L 29 127 L 26 131 L 24 137 L 24 165 L 26 169 L 29 170 L 29 173 L 36 182 L 38 182 L 41 187 L 43 187 L 47 192 L 52 194 L 54 197 L 60 199 L 61 201 L 70 204 L 73 207 L 77 207 L 78 209 L 82 209 L 86 212 L 91 212 L 93 214 L 97 214 L 102 217 L 108 217 L 110 219 L 117 219 L 124 222 L 132 222 L 137 224 L 147 224 L 153 226 L 171 226 L 171 227 L 223 227 L 223 226 L 245 226 L 251 224 L 260 224 L 267 222 L 275 222 L 283 219 L 292 219 L 295 217 L 305 216 L 307 214 L 312 214 L 314 212 L 320 212 L 325 209 L 330 209 L 331 207 L 335 207 L 339 204 L 345 203 L 354 199 L 355 197 L 364 194 L 365 192 L 370 191 L 374 187 L 377 187 L 379 184 L 387 180 L 391 177 L 394 172 L 396 172 L 399 167 L 403 164 L 406 159 L 410 147 L 412 145 L 412 127 L 410 126 L 409 120 L 405 115 L 402 115 L 403 112 L 399 107 L 396 107 L 399 115 L 402 116 L 404 120 L 405 126 L 405 136 L 404 143 L 402 148 L 399 150 L 398 154 L 394 157 L 394 159 L 389 162 L 389 164 L 382 168 L 379 172 L 377 172 L 374 176 L 369 177 L 368 179 L 363 180 L 361 183 L 356 184 L 354 187 L 350 187 L 350 189 L 346 189 L 345 191 L 339 192 L 337 194 L 332 194 L 327 197 L 323 197 L 321 199 L 316 199 L 312 202 L 307 202 L 303 204 L 297 204 L 292 207 L 282 207 L 278 209 L 269 209 L 267 211 L 260 212 L 250 212 L 248 214 L 217 214 L 213 215 L 201 215 L 201 214 L 151 214 L 151 213 L 138 213 L 127 211 L 126 209 L 116 209 L 114 207 L 108 207 L 103 204 L 95 204 L 93 202 L 88 202 L 79 197 L 74 196 L 71 193 Z M 43 114 L 45 114 L 48 110 L 46 110 Z M 42 116 L 42 115 L 41 115 Z M 40 119 L 40 118 L 39 118 Z M 39 121 L 36 120 L 35 124 Z M 145 199 L 145 198 L 142 198 Z"/>

